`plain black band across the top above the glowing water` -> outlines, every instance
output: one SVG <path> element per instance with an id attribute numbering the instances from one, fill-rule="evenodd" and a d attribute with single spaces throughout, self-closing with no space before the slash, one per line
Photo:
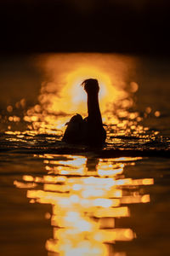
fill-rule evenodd
<path id="1" fill-rule="evenodd" d="M 167 0 L 1 0 L 0 51 L 170 54 Z"/>

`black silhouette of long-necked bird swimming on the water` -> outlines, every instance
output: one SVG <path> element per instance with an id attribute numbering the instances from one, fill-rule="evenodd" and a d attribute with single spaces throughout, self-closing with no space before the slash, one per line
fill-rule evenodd
<path id="1" fill-rule="evenodd" d="M 88 117 L 82 119 L 80 114 L 71 117 L 62 141 L 88 145 L 105 143 L 106 131 L 102 124 L 99 110 L 99 84 L 97 79 L 86 79 L 82 82 L 88 94 Z"/>

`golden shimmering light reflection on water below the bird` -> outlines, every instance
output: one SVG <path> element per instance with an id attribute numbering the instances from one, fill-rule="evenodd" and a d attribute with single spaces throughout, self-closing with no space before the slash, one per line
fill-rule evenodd
<path id="1" fill-rule="evenodd" d="M 52 206 L 52 212 L 45 214 L 53 227 L 47 251 L 63 256 L 125 256 L 126 252 L 114 251 L 114 243 L 132 241 L 136 235 L 130 228 L 117 228 L 116 218 L 130 217 L 129 204 L 150 202 L 150 195 L 141 195 L 139 188 L 154 183 L 152 178 L 125 177 L 124 167 L 141 158 L 35 157 L 43 159 L 47 174 L 24 175 L 14 185 L 28 189 L 30 203 Z"/>

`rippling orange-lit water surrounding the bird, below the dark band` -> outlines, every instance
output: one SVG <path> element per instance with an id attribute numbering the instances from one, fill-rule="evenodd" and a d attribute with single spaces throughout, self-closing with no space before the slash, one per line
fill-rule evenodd
<path id="1" fill-rule="evenodd" d="M 169 255 L 169 61 L 113 54 L 0 61 L 2 255 Z M 99 79 L 103 148 L 61 142 Z"/>

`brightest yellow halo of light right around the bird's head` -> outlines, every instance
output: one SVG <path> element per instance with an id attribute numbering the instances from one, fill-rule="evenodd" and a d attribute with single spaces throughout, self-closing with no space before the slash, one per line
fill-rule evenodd
<path id="1" fill-rule="evenodd" d="M 72 73 L 68 73 L 66 76 L 66 86 L 61 91 L 60 96 L 64 99 L 66 95 L 71 96 L 71 105 L 65 105 L 64 109 L 61 106 L 62 111 L 68 112 L 70 109 L 71 113 L 87 113 L 87 96 L 80 84 L 84 79 L 94 78 L 99 81 L 99 100 L 100 106 L 105 111 L 106 104 L 112 102 L 118 96 L 118 92 L 115 87 L 111 84 L 111 78 L 108 73 L 104 73 L 101 69 L 93 66 L 78 67 Z M 114 98 L 113 98 L 114 97 Z M 67 102 L 67 101 L 66 101 Z M 63 105 L 63 104 L 62 104 Z M 52 109 L 59 108 L 58 102 L 52 105 Z"/>

